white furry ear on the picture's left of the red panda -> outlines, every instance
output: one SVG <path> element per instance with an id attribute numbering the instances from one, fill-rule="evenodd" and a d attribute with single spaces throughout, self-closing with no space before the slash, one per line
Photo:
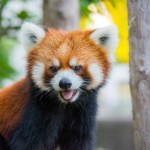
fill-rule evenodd
<path id="1" fill-rule="evenodd" d="M 39 42 L 45 36 L 45 31 L 41 27 L 25 22 L 21 27 L 20 38 L 25 48 L 32 48 L 37 42 Z"/>

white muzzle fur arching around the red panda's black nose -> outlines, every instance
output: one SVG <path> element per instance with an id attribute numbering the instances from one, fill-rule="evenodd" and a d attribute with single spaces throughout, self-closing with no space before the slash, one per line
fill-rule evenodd
<path id="1" fill-rule="evenodd" d="M 60 70 L 51 80 L 51 83 L 55 90 L 62 91 L 62 89 L 59 87 L 59 82 L 63 78 L 68 78 L 72 82 L 72 86 L 70 89 L 78 89 L 83 83 L 82 78 L 76 75 L 73 70 L 71 69 Z"/>

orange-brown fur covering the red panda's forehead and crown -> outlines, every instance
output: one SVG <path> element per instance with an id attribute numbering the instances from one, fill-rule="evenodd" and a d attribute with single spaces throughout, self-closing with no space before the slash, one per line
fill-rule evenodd
<path id="1" fill-rule="evenodd" d="M 53 65 L 53 57 L 60 61 L 61 69 L 70 68 L 69 61 L 75 57 L 77 64 L 82 65 L 91 78 L 87 67 L 94 62 L 98 63 L 105 79 L 110 68 L 108 54 L 103 47 L 90 39 L 91 33 L 90 30 L 65 32 L 49 29 L 44 39 L 29 53 L 29 77 L 37 60 L 45 64 L 45 74 L 50 75 L 49 67 Z"/>

